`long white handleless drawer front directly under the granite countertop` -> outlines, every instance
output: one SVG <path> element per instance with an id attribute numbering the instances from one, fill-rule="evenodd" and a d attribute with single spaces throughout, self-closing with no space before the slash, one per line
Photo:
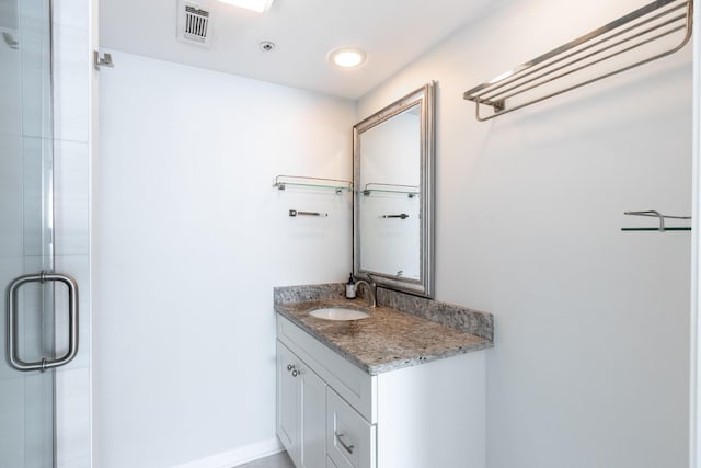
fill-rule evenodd
<path id="1" fill-rule="evenodd" d="M 377 376 L 350 364 L 311 334 L 277 315 L 277 339 L 349 402 L 363 418 L 377 422 Z"/>

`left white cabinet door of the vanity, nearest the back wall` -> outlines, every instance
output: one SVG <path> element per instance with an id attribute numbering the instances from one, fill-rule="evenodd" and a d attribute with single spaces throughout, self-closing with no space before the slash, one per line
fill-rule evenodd
<path id="1" fill-rule="evenodd" d="M 292 369 L 299 365 L 285 345 L 277 342 L 277 436 L 297 465 L 299 461 L 299 391 Z"/>

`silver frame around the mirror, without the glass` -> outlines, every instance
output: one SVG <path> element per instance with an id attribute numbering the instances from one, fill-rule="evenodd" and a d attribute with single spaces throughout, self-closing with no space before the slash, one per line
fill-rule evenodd
<path id="1" fill-rule="evenodd" d="M 417 296 L 434 297 L 434 167 L 435 167 L 435 81 L 413 91 L 387 107 L 376 112 L 353 127 L 353 272 L 358 277 L 369 275 L 380 287 L 401 290 Z M 391 276 L 381 272 L 360 270 L 360 222 L 358 207 L 363 187 L 360 181 L 360 136 L 364 132 L 392 118 L 405 110 L 421 105 L 421 273 L 418 279 Z"/>

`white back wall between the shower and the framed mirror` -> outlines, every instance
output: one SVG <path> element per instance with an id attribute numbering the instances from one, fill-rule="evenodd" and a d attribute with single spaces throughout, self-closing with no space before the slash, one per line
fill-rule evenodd
<path id="1" fill-rule="evenodd" d="M 111 52 L 93 202 L 95 466 L 232 466 L 278 447 L 273 287 L 345 281 L 352 263 L 352 195 L 273 180 L 349 180 L 355 105 Z"/>

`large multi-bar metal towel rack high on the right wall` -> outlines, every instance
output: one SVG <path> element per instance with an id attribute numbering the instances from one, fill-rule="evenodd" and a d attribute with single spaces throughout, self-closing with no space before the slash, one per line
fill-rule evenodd
<path id="1" fill-rule="evenodd" d="M 480 122 L 544 101 L 674 54 L 691 38 L 692 16 L 693 0 L 654 1 L 466 91 L 463 98 L 475 103 L 475 117 Z M 629 57 L 636 57 L 634 62 L 620 64 L 616 60 L 617 65 L 610 65 L 611 61 L 608 61 L 647 44 L 662 44 L 659 42 L 667 36 L 676 38 L 673 36 L 675 33 L 680 36 L 678 42 L 675 41 L 673 45 L 665 43 L 662 50 L 647 50 L 643 59 L 636 54 L 629 54 Z M 601 65 L 604 62 L 608 68 Z M 602 68 L 597 68 L 594 78 L 585 72 L 598 65 Z M 565 77 L 572 81 L 560 81 Z M 551 83 L 560 85 L 554 90 L 553 87 L 545 87 Z M 507 100 L 521 94 L 524 99 L 530 99 L 507 106 Z M 481 104 L 492 106 L 494 113 L 482 116 Z"/>

